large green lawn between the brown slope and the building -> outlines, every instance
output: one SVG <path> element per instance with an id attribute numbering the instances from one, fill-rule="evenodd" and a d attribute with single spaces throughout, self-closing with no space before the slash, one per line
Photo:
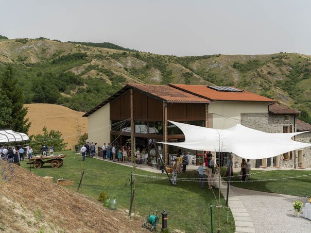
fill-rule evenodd
<path id="1" fill-rule="evenodd" d="M 54 182 L 59 178 L 74 180 L 74 186 L 68 187 L 77 190 L 81 175 L 80 156 L 73 152 L 66 151 L 67 157 L 64 159 L 64 165 L 53 169 L 49 164 L 42 168 L 32 171 L 39 176 L 52 176 Z M 26 162 L 21 162 L 21 166 L 29 169 Z M 99 193 L 104 190 L 110 198 L 116 197 L 118 207 L 129 209 L 130 205 L 130 186 L 126 186 L 126 181 L 130 178 L 131 167 L 118 164 L 86 158 L 82 163 L 82 170 L 85 171 L 83 182 L 83 193 L 87 196 L 97 198 Z M 137 169 L 138 174 L 156 175 L 155 173 Z M 163 176 L 163 175 L 156 175 Z M 196 171 L 178 174 L 178 177 L 198 177 Z M 218 196 L 218 189 L 214 189 Z M 213 193 L 199 188 L 197 182 L 178 182 L 177 186 L 171 186 L 167 180 L 150 179 L 137 177 L 136 209 L 140 216 L 148 214 L 149 206 L 152 210 L 161 212 L 167 211 L 168 227 L 170 229 L 180 229 L 189 233 L 210 232 L 210 209 L 209 204 L 216 205 Z M 222 197 L 222 204 L 225 200 Z M 213 227 L 216 232 L 218 210 L 213 208 Z M 229 224 L 226 224 L 227 211 L 222 209 L 221 230 L 225 233 L 235 231 L 234 220 L 229 211 Z M 161 223 L 160 223 L 161 224 Z M 159 228 L 160 229 L 159 225 Z"/>

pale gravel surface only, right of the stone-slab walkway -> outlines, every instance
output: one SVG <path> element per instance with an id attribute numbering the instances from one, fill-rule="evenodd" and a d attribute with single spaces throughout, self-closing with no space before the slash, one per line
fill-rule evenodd
<path id="1" fill-rule="evenodd" d="M 242 189 L 230 189 L 242 201 L 243 206 L 253 219 L 257 233 L 310 233 L 311 220 L 294 217 L 294 196 Z M 230 200 L 230 199 L 229 199 Z M 307 199 L 302 200 L 306 203 Z"/>

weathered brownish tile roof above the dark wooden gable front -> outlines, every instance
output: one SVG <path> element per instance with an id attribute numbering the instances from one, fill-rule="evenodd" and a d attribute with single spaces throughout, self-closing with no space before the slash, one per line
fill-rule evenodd
<path id="1" fill-rule="evenodd" d="M 196 95 L 192 95 L 188 92 L 173 88 L 172 86 L 167 85 L 151 85 L 151 84 L 137 84 L 130 83 L 128 86 L 134 87 L 142 92 L 150 94 L 159 99 L 168 101 L 168 102 L 210 102 L 207 99 L 201 98 Z"/>

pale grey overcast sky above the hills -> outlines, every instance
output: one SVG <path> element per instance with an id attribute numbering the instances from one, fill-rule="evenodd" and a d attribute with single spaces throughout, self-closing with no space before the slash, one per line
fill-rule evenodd
<path id="1" fill-rule="evenodd" d="M 0 34 L 180 56 L 311 54 L 311 0 L 0 0 Z"/>

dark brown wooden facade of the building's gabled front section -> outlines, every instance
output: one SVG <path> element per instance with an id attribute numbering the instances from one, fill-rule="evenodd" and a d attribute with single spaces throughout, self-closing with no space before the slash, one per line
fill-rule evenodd
<path id="1" fill-rule="evenodd" d="M 133 92 L 133 118 L 131 118 L 131 91 Z M 137 133 L 134 132 L 134 137 L 139 140 L 145 138 L 155 139 L 158 141 L 172 141 L 180 140 L 184 138 L 183 134 L 170 134 L 168 135 L 167 120 L 173 121 L 202 121 L 207 125 L 207 104 L 206 103 L 185 103 L 185 102 L 173 102 L 168 103 L 165 100 L 160 100 L 156 97 L 148 95 L 148 93 L 140 92 L 137 89 L 129 89 L 122 95 L 110 102 L 110 120 L 126 120 L 131 118 L 131 132 L 111 132 L 111 136 L 116 138 L 119 136 L 120 144 L 128 139 L 132 135 L 132 131 L 135 126 L 132 124 L 135 122 L 144 122 L 148 126 L 149 122 L 161 122 L 163 124 L 163 133 L 152 134 L 152 133 Z M 113 141 L 113 140 L 111 140 Z M 163 153 L 165 163 L 169 163 L 168 158 L 168 147 L 163 146 Z"/>

